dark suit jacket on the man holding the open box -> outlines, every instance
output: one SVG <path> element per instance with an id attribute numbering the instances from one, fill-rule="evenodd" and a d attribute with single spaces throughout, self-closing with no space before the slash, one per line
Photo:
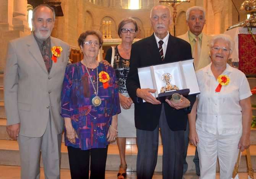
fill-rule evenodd
<path id="1" fill-rule="evenodd" d="M 154 130 L 159 124 L 162 107 L 162 104 L 152 105 L 151 103 L 143 103 L 142 99 L 136 96 L 136 89 L 140 88 L 137 68 L 191 58 L 190 44 L 172 35 L 169 36 L 164 61 L 160 60 L 160 53 L 154 34 L 132 45 L 127 90 L 135 105 L 134 116 L 136 128 L 149 131 Z M 195 99 L 195 95 L 188 97 L 191 106 L 193 106 Z M 188 112 L 186 110 L 174 109 L 166 102 L 164 102 L 164 109 L 167 123 L 171 130 L 178 131 L 186 129 L 188 120 Z"/>

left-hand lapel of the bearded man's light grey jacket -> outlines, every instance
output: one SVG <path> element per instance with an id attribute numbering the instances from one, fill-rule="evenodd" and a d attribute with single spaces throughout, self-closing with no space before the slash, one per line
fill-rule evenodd
<path id="1" fill-rule="evenodd" d="M 28 50 L 31 53 L 32 57 L 37 61 L 37 63 L 39 63 L 42 70 L 44 70 L 45 73 L 48 74 L 48 71 L 44 63 L 44 59 L 42 57 L 42 54 L 40 52 L 40 49 L 38 47 L 36 39 L 34 38 L 33 33 L 30 35 L 27 45 L 28 45 Z"/>

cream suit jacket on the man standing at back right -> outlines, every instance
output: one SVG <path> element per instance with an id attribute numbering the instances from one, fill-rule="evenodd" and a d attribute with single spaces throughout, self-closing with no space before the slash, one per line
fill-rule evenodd
<path id="1" fill-rule="evenodd" d="M 187 41 L 188 43 L 190 43 L 190 39 L 188 37 L 188 32 L 186 32 L 183 35 L 178 36 L 178 38 L 181 38 L 181 39 Z M 211 38 L 212 38 L 212 36 L 206 35 L 203 33 L 202 44 L 201 44 L 201 53 L 200 53 L 200 57 L 199 57 L 198 67 L 195 70 L 204 68 L 211 63 L 211 58 L 209 56 L 210 49 L 209 49 L 209 45 L 208 45 Z"/>

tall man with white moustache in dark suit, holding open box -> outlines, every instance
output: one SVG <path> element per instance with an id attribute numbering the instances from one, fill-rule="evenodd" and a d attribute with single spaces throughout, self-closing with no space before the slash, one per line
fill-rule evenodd
<path id="1" fill-rule="evenodd" d="M 195 96 L 182 97 L 180 103 L 166 100 L 161 103 L 151 93 L 155 89 L 141 89 L 138 67 L 192 58 L 190 44 L 168 32 L 172 17 L 169 8 L 152 8 L 150 21 L 154 34 L 132 45 L 127 89 L 135 105 L 137 135 L 137 177 L 151 179 L 157 163 L 159 128 L 163 143 L 163 178 L 181 179 L 183 171 L 184 130 L 187 114 Z M 146 102 L 143 103 L 143 100 Z"/>

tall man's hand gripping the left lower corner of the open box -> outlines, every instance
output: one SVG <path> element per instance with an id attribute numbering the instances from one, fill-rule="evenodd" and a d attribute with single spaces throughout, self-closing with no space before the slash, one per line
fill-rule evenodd
<path id="1" fill-rule="evenodd" d="M 152 105 L 160 105 L 161 102 L 159 100 L 157 100 L 155 97 L 152 96 L 151 93 L 155 93 L 156 90 L 155 89 L 140 89 L 138 88 L 136 90 L 136 96 L 139 98 L 142 98 L 143 100 L 145 100 L 147 103 L 151 103 Z"/>

